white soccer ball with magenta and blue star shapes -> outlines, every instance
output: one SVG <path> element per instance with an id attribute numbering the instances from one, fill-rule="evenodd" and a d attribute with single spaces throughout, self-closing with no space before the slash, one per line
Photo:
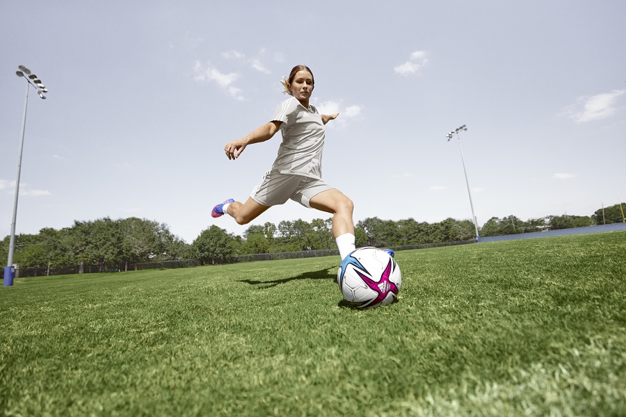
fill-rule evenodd
<path id="1" fill-rule="evenodd" d="M 351 306 L 359 309 L 386 306 L 398 296 L 402 274 L 387 252 L 376 247 L 360 247 L 339 265 L 337 284 Z"/>

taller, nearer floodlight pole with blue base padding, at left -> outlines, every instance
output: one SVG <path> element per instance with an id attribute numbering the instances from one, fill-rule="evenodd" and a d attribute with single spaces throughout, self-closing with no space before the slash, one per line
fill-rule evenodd
<path id="1" fill-rule="evenodd" d="M 24 97 L 24 115 L 22 116 L 22 136 L 19 138 L 19 152 L 17 154 L 17 178 L 15 179 L 15 196 L 13 197 L 13 218 L 11 220 L 11 237 L 9 240 L 9 252 L 6 267 L 4 268 L 4 286 L 13 285 L 13 277 L 15 276 L 15 268 L 13 267 L 13 254 L 15 252 L 15 221 L 17 220 L 17 197 L 19 196 L 19 176 L 22 172 L 22 151 L 24 149 L 24 129 L 26 129 L 26 109 L 29 106 L 29 89 L 31 85 L 38 93 L 39 97 L 45 99 L 43 93 L 48 92 L 45 85 L 37 78 L 35 74 L 31 74 L 31 70 L 19 65 L 17 76 L 21 76 L 26 80 L 26 97 Z"/>

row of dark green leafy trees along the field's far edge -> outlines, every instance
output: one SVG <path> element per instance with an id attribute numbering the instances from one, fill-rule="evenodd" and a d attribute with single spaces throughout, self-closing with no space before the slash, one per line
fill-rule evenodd
<path id="1" fill-rule="evenodd" d="M 623 222 L 623 205 L 600 208 L 591 216 L 551 215 L 526 221 L 515 215 L 490 218 L 479 231 L 481 236 L 502 236 Z M 243 236 L 236 236 L 212 225 L 189 244 L 173 235 L 167 224 L 154 220 L 74 221 L 71 227 L 60 230 L 45 228 L 36 235 L 17 235 L 14 262 L 22 269 L 38 268 L 39 275 L 59 273 L 56 271 L 63 265 L 75 265 L 78 272 L 102 272 L 133 269 L 137 263 L 185 259 L 221 264 L 233 262 L 241 254 L 333 250 L 336 245 L 331 227 L 330 218 L 283 220 L 278 225 L 252 225 Z M 447 218 L 428 223 L 374 217 L 355 225 L 355 238 L 357 247 L 399 247 L 472 240 L 475 230 L 470 220 Z M 8 258 L 8 245 L 6 236 L 0 245 L 0 259 Z"/>

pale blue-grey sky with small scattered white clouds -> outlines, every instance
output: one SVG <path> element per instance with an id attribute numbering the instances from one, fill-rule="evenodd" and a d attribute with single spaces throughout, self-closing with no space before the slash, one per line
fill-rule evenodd
<path id="1" fill-rule="evenodd" d="M 323 179 L 354 220 L 592 215 L 626 201 L 623 0 L 0 2 L 0 236 L 145 218 L 192 243 L 245 201 L 280 133 L 236 161 L 312 69 Z M 462 125 L 448 141 L 447 133 Z M 462 148 L 461 148 L 462 146 Z M 465 163 L 465 170 L 463 163 Z M 468 193 L 467 182 L 470 185 Z M 251 224 L 330 218 L 295 202 Z"/>

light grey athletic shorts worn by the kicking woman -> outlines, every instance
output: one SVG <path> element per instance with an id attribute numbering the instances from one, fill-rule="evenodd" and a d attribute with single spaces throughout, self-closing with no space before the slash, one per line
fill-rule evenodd
<path id="1" fill-rule="evenodd" d="M 252 190 L 250 197 L 264 206 L 278 206 L 288 199 L 311 208 L 310 201 L 323 191 L 332 190 L 321 179 L 303 177 L 302 175 L 281 174 L 278 170 L 265 173 L 261 182 Z"/>

